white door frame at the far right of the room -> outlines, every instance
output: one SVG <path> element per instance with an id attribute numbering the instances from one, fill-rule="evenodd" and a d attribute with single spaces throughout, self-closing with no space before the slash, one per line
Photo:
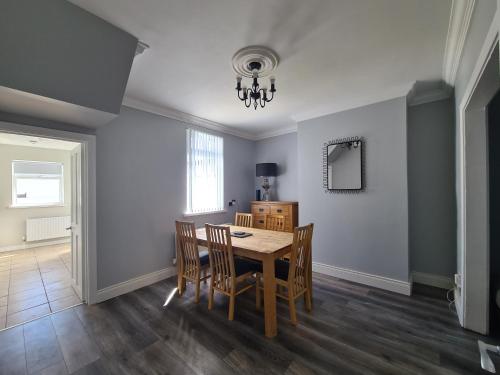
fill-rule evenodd
<path id="1" fill-rule="evenodd" d="M 476 88 L 483 76 L 487 64 L 490 61 L 492 53 L 499 43 L 500 35 L 500 0 L 497 0 L 497 10 L 486 39 L 481 48 L 481 52 L 472 71 L 469 82 L 467 83 L 464 96 L 459 105 L 458 122 L 458 155 L 459 163 L 458 183 L 458 249 L 461 249 L 461 267 L 458 267 L 458 273 L 462 278 L 462 288 L 455 289 L 455 306 L 460 324 L 467 329 L 487 334 L 489 331 L 489 238 L 481 240 L 489 233 L 488 216 L 488 197 L 480 202 L 482 208 L 469 202 L 469 212 L 467 211 L 468 196 L 473 191 L 479 191 L 486 188 L 487 192 L 487 168 L 480 171 L 480 181 L 474 181 L 471 178 L 472 171 L 468 168 L 467 153 L 468 150 L 478 150 L 478 147 L 488 149 L 487 135 L 482 137 L 480 142 L 471 145 L 467 142 L 467 130 L 471 126 L 478 126 L 478 130 L 487 129 L 487 116 L 478 116 L 478 111 L 468 111 L 468 105 L 471 102 Z M 500 74 L 500 72 L 499 72 Z M 471 119 L 472 117 L 472 119 Z M 487 133 L 486 133 L 487 134 Z M 473 152 L 473 151 L 472 151 Z M 470 179 L 467 182 L 467 179 Z M 469 194 L 468 194 L 469 193 Z M 485 211 L 485 212 L 484 212 Z M 467 216 L 469 215 L 469 217 Z M 473 220 L 474 218 L 474 220 Z M 478 225 L 479 222 L 479 225 Z M 470 249 L 469 249 L 470 248 Z M 460 255 L 460 253 L 459 253 Z M 468 279 L 468 274 L 471 276 Z M 475 276 L 474 276 L 475 275 Z M 482 275 L 483 277 L 478 277 Z M 488 280 L 486 280 L 488 278 Z"/>

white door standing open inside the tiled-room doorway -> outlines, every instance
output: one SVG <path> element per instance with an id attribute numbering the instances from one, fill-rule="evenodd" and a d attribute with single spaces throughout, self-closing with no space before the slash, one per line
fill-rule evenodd
<path id="1" fill-rule="evenodd" d="M 78 297 L 83 295 L 82 149 L 71 151 L 71 278 Z"/>

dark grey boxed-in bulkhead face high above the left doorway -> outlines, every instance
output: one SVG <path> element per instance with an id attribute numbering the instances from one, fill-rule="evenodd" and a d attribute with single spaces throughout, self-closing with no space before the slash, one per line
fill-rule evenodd
<path id="1" fill-rule="evenodd" d="M 132 35 L 65 0 L 2 0 L 0 35 L 0 86 L 119 112 Z"/>

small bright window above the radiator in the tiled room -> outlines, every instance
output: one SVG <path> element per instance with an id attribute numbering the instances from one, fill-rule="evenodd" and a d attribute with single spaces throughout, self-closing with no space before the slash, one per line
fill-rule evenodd
<path id="1" fill-rule="evenodd" d="M 64 203 L 62 163 L 14 160 L 12 206 L 52 206 Z"/>

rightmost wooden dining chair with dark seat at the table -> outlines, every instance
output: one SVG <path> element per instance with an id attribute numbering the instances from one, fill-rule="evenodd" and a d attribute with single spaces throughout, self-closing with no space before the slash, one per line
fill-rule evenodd
<path id="1" fill-rule="evenodd" d="M 290 261 L 276 259 L 274 264 L 274 274 L 276 284 L 279 287 L 287 289 L 287 293 L 280 290 L 276 296 L 288 300 L 290 309 L 290 320 L 293 325 L 297 324 L 297 312 L 295 309 L 295 300 L 304 296 L 304 303 L 307 311 L 311 311 L 312 298 L 311 288 L 309 283 L 309 262 L 311 259 L 311 241 L 314 224 L 296 227 L 293 232 L 293 243 Z M 257 309 L 261 308 L 261 277 L 262 274 L 256 275 L 256 305 Z"/>

